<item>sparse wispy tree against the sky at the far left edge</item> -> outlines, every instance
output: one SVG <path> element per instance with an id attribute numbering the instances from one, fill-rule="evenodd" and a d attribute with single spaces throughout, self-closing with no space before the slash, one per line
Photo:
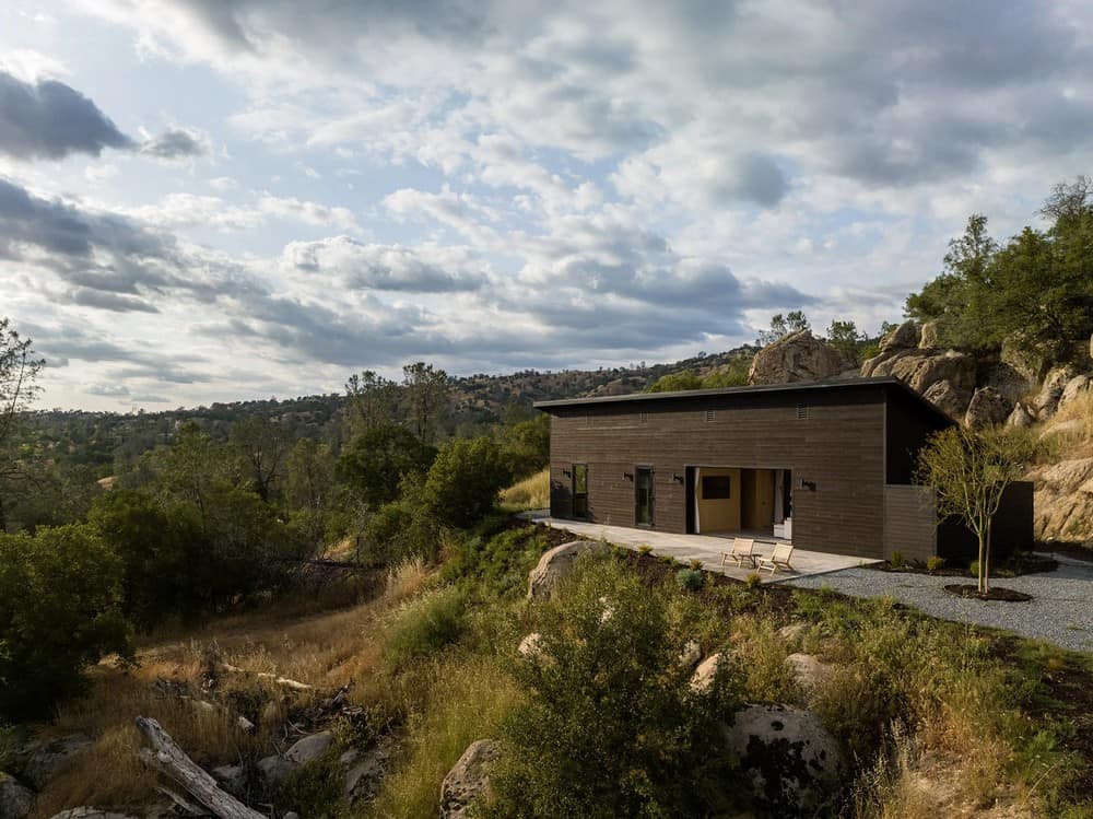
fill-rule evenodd
<path id="1" fill-rule="evenodd" d="M 4 499 L 26 464 L 16 446 L 16 429 L 38 394 L 35 381 L 43 366 L 31 339 L 21 337 L 7 317 L 0 318 L 0 533 L 8 530 Z"/>

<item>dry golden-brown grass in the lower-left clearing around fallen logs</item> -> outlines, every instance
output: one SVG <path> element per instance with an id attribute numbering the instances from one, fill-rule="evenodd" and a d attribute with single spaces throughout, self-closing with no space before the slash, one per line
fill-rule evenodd
<path id="1" fill-rule="evenodd" d="M 63 705 L 43 735 L 83 733 L 94 739 L 73 763 L 39 795 L 32 819 L 67 808 L 95 805 L 134 812 L 157 800 L 156 777 L 138 759 L 141 739 L 137 716 L 151 716 L 198 763 L 231 764 L 262 756 L 286 742 L 283 725 L 290 706 L 306 704 L 307 694 L 289 693 L 257 672 L 271 672 L 329 690 L 354 682 L 353 700 L 390 701 L 381 669 L 383 629 L 388 612 L 428 584 L 421 563 L 391 573 L 387 590 L 376 599 L 334 611 L 304 613 L 314 607 L 271 606 L 213 621 L 187 640 L 144 639 L 138 666 L 104 663 L 92 672 L 89 695 Z M 193 633 L 193 632 L 191 632 Z M 200 679 L 207 658 L 219 657 L 243 672 L 221 674 L 214 691 Z M 153 686 L 168 681 L 183 697 Z M 213 701 L 203 706 L 196 700 Z M 226 703 L 247 703 L 258 724 L 251 735 L 237 725 Z"/>

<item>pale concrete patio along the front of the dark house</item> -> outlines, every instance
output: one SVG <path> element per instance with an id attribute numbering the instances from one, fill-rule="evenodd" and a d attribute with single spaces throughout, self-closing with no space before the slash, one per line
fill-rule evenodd
<path id="1" fill-rule="evenodd" d="M 584 523 L 581 520 L 564 520 L 550 517 L 544 512 L 529 513 L 527 515 L 536 523 L 546 524 L 555 529 L 572 531 L 574 535 L 591 538 L 593 540 L 607 540 L 627 549 L 638 549 L 642 546 L 651 547 L 654 554 L 671 557 L 681 563 L 690 563 L 692 560 L 701 560 L 703 569 L 708 572 L 721 572 L 721 552 L 732 548 L 732 539 L 724 537 L 713 537 L 709 535 L 672 535 L 665 531 L 653 531 L 649 529 L 634 529 L 626 526 L 602 526 L 600 524 Z M 769 555 L 774 550 L 773 542 L 763 542 L 756 539 L 755 551 L 761 555 Z M 861 558 L 849 558 L 845 554 L 828 554 L 826 552 L 810 552 L 803 549 L 795 549 L 790 564 L 792 572 L 779 571 L 772 575 L 769 572 L 762 572 L 763 583 L 781 583 L 784 581 L 800 580 L 828 572 L 839 572 L 844 569 L 868 565 L 879 561 L 865 560 Z M 726 566 L 724 574 L 737 580 L 744 580 L 755 570 L 751 566 L 738 569 L 734 565 Z"/>

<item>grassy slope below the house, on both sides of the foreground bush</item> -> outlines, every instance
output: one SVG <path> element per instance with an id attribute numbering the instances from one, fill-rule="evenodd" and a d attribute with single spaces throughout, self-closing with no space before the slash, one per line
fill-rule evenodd
<path id="1" fill-rule="evenodd" d="M 513 704 L 529 695 L 507 669 L 536 625 L 522 592 L 527 570 L 552 545 L 548 534 L 509 529 L 471 539 L 442 568 L 404 566 L 367 602 L 304 616 L 273 607 L 211 623 L 192 639 L 149 641 L 136 669 L 96 669 L 90 697 L 48 728 L 87 732 L 96 745 L 49 786 L 35 816 L 86 804 L 134 809 L 153 799 L 129 727 L 138 714 L 160 718 L 207 765 L 283 747 L 285 713 L 305 712 L 307 698 L 286 702 L 246 676 L 203 691 L 210 646 L 247 670 L 325 688 L 352 683 L 351 701 L 367 725 L 334 723 L 339 736 L 352 742 L 391 730 L 400 751 L 377 799 L 350 815 L 435 815 L 440 780 L 462 750 L 495 736 Z M 675 588 L 677 568 L 649 555 L 621 559 L 646 583 Z M 847 816 L 1093 817 L 1079 807 L 1093 787 L 1088 656 L 823 592 L 716 583 L 673 595 L 704 653 L 734 652 L 747 701 L 801 695 L 785 663 L 794 651 L 832 664 L 814 707 L 858 754 Z M 808 624 L 801 637 L 779 636 L 790 622 Z M 161 679 L 201 699 L 257 703 L 258 735 L 238 730 L 228 711 L 163 695 L 151 686 Z M 986 812 L 991 805 L 996 812 Z"/>

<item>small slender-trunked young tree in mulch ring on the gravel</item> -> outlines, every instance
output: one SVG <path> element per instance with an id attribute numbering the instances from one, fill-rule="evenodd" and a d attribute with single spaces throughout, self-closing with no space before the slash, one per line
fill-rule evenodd
<path id="1" fill-rule="evenodd" d="M 918 455 L 916 480 L 937 491 L 939 516 L 962 520 L 978 541 L 979 592 L 989 587 L 995 514 L 1006 489 L 1024 473 L 1031 456 L 1022 436 L 1001 428 L 962 426 L 936 433 Z"/>

